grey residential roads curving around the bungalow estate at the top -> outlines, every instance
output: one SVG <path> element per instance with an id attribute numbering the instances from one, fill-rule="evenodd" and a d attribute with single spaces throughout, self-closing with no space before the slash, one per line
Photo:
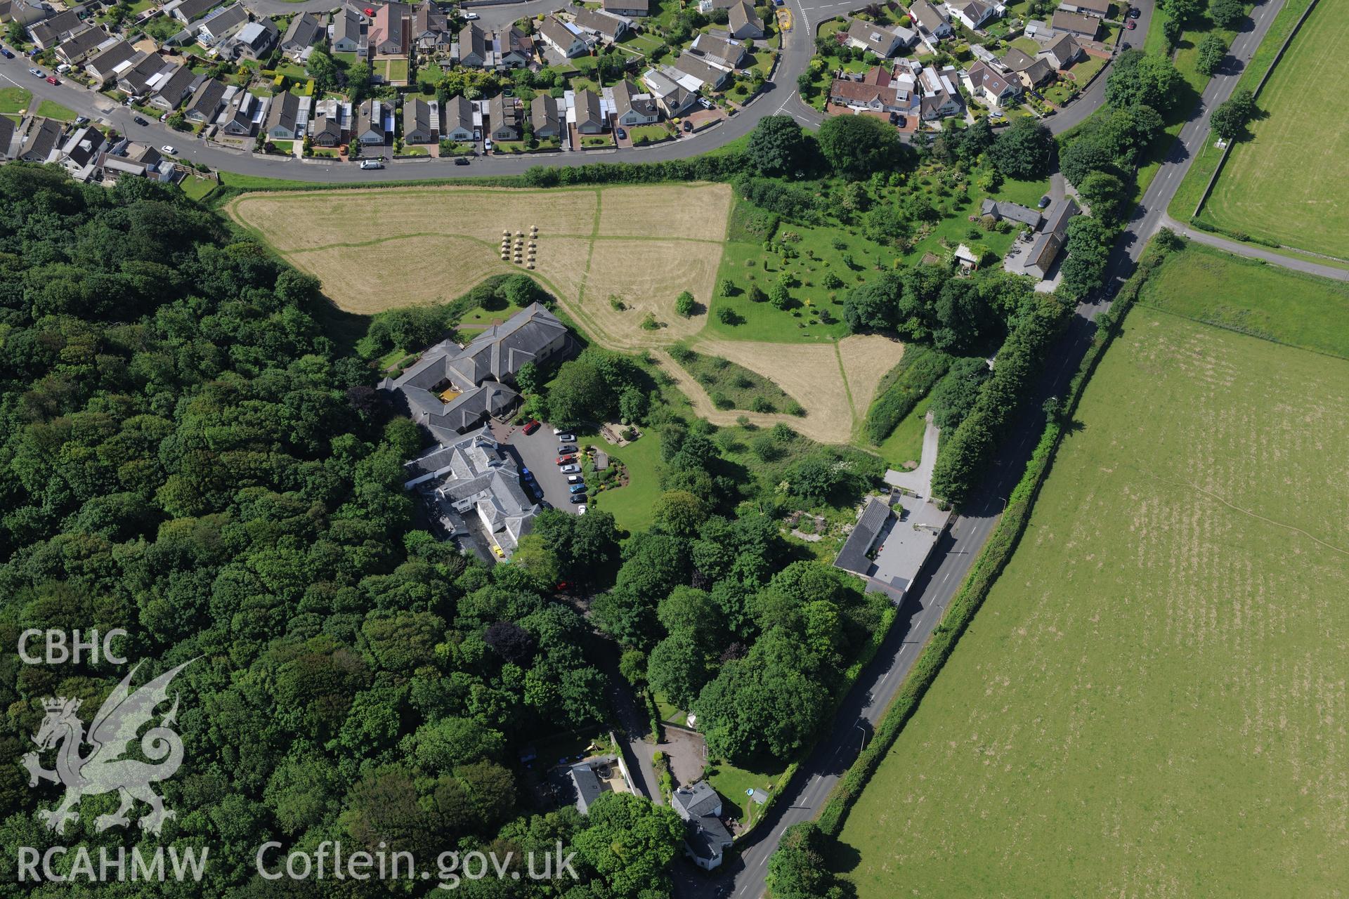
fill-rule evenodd
<path id="1" fill-rule="evenodd" d="M 1139 19 L 1139 30 L 1132 34 L 1147 34 L 1148 22 L 1152 15 L 1152 1 L 1141 0 L 1139 4 L 1143 8 L 1143 18 Z M 301 3 L 252 0 L 251 5 L 259 12 L 268 15 L 289 13 L 299 9 L 326 11 L 335 7 L 332 0 L 302 0 Z M 525 3 L 475 7 L 475 12 L 480 16 L 479 24 L 490 30 L 510 24 L 522 16 L 549 12 L 565 5 L 565 0 L 526 0 Z M 809 66 L 811 55 L 815 53 L 815 28 L 826 19 L 843 15 L 859 5 L 865 5 L 862 0 L 788 0 L 785 8 L 792 11 L 793 28 L 782 35 L 781 55 L 777 70 L 773 74 L 773 81 L 765 86 L 765 92 L 759 97 L 745 106 L 737 116 L 726 119 L 722 124 L 707 128 L 703 132 L 645 148 L 538 154 L 534 156 L 479 156 L 467 167 L 456 166 L 449 159 L 425 159 L 394 162 L 386 168 L 362 170 L 351 163 L 322 163 L 291 156 L 262 156 L 246 150 L 231 150 L 208 144 L 196 137 L 175 132 L 158 121 L 138 125 L 132 120 L 131 109 L 80 85 L 47 84 L 42 78 L 28 73 L 31 62 L 24 57 L 16 57 L 15 59 L 0 58 L 0 86 L 8 82 L 27 88 L 34 94 L 34 104 L 42 100 L 53 100 L 80 115 L 112 125 L 132 140 L 140 140 L 156 147 L 173 144 L 178 148 L 181 159 L 221 171 L 318 183 L 379 183 L 421 178 L 496 178 L 502 175 L 518 175 L 533 166 L 687 159 L 747 135 L 754 129 L 759 119 L 769 115 L 789 115 L 803 125 L 816 128 L 823 121 L 823 116 L 800 98 L 796 92 L 796 81 Z M 1051 131 L 1058 133 L 1091 115 L 1102 102 L 1103 85 L 1105 77 L 1102 73 L 1087 92 L 1063 112 L 1048 120 Z"/>

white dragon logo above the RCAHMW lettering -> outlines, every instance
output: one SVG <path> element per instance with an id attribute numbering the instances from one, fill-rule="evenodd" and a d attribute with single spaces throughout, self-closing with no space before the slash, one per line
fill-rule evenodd
<path id="1" fill-rule="evenodd" d="M 80 819 L 80 814 L 73 809 L 80 805 L 81 797 L 113 790 L 121 795 L 121 805 L 116 813 L 94 818 L 94 829 L 98 833 L 112 826 L 131 824 L 127 810 L 135 799 L 150 806 L 150 814 L 142 817 L 139 822 L 148 833 L 158 834 L 163 822 L 175 817 L 171 809 L 165 809 L 163 799 L 150 788 L 150 784 L 171 778 L 182 764 L 182 739 L 170 726 L 178 714 L 177 694 L 173 708 L 159 724 L 140 737 L 140 751 L 151 762 L 128 759 L 125 755 L 130 743 L 136 739 L 136 732 L 154 717 L 155 708 L 167 701 L 169 682 L 192 662 L 196 659 L 161 674 L 135 691 L 131 690 L 131 678 L 140 666 L 131 669 L 100 706 L 93 724 L 89 725 L 88 737 L 84 725 L 76 717 L 80 700 L 55 697 L 42 701 L 47 716 L 42 720 L 38 736 L 32 741 L 38 744 L 39 751 L 61 745 L 57 752 L 57 767 L 54 771 L 43 768 L 36 752 L 23 756 L 23 767 L 28 770 L 30 787 L 38 786 L 38 780 L 42 779 L 66 788 L 61 805 L 38 811 L 38 818 L 46 822 L 49 830 L 65 833 L 67 821 Z M 81 757 L 80 748 L 85 743 L 92 745 L 93 751 Z"/>

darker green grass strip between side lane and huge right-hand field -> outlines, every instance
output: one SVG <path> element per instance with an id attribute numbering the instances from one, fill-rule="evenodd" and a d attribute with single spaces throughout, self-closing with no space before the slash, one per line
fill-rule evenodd
<path id="1" fill-rule="evenodd" d="M 1190 244 L 1143 302 L 1207 325 L 1349 359 L 1349 284 Z"/>

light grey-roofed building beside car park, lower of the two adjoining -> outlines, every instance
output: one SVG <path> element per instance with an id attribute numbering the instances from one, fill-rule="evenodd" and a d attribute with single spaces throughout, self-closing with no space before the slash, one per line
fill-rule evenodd
<path id="1" fill-rule="evenodd" d="M 403 469 L 403 488 L 421 488 L 441 527 L 479 546 L 475 538 L 486 535 L 503 555 L 515 550 L 538 514 L 538 504 L 521 487 L 514 460 L 486 425 L 468 435 L 456 434 Z"/>

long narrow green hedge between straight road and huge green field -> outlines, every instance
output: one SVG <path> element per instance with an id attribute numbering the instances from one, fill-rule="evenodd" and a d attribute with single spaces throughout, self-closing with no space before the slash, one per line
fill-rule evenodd
<path id="1" fill-rule="evenodd" d="M 974 561 L 974 566 L 970 569 L 965 584 L 960 585 L 959 592 L 951 600 L 950 607 L 947 607 L 943 621 L 932 632 L 932 638 L 927 646 L 923 647 L 919 660 L 905 678 L 904 686 L 896 694 L 890 708 L 886 709 L 871 741 L 824 802 L 819 825 L 828 836 L 838 837 L 843 830 L 843 824 L 847 821 L 847 814 L 851 811 L 853 803 L 857 802 L 857 798 L 862 794 L 867 782 L 870 782 L 871 775 L 885 756 L 889 755 L 909 718 L 917 712 L 919 702 L 921 702 L 936 679 L 938 673 L 951 656 L 956 642 L 970 627 L 974 615 L 983 605 L 983 600 L 987 598 L 998 576 L 1002 574 L 1002 569 L 1012 559 L 1012 554 L 1016 551 L 1017 543 L 1020 543 L 1021 535 L 1031 520 L 1031 511 L 1040 495 L 1044 478 L 1050 473 L 1054 456 L 1063 439 L 1064 422 L 1071 421 L 1072 412 L 1077 411 L 1087 381 L 1095 372 L 1101 357 L 1105 356 L 1105 350 L 1109 349 L 1116 336 L 1118 336 L 1125 315 L 1128 315 L 1139 299 L 1143 284 L 1147 283 L 1157 266 L 1171 252 L 1183 245 L 1184 243 L 1172 232 L 1163 229 L 1139 260 L 1139 267 L 1133 275 L 1120 288 L 1110 309 L 1097 318 L 1095 334 L 1078 365 L 1077 375 L 1072 376 L 1062 414 L 1045 425 L 1044 431 L 1040 434 L 1040 442 L 1036 445 L 1035 452 L 1031 454 L 1031 461 L 1027 464 L 1025 473 L 1008 497 L 1002 519 L 989 536 L 989 542 L 983 546 L 979 557 Z"/>

